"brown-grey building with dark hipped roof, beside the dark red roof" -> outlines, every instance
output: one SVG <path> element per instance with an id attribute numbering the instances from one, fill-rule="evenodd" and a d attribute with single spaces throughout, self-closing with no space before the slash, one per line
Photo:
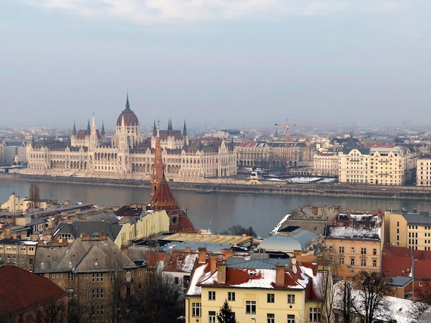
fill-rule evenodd
<path id="1" fill-rule="evenodd" d="M 66 291 L 88 322 L 128 313 L 128 296 L 144 288 L 145 271 L 104 234 L 83 235 L 70 245 L 38 245 L 34 260 L 34 273 Z"/>

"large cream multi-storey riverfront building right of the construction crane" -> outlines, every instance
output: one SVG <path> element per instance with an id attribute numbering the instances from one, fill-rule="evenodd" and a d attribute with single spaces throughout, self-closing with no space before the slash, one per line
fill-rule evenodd
<path id="1" fill-rule="evenodd" d="M 339 182 L 401 186 L 413 179 L 416 160 L 403 146 L 346 148 L 338 154 Z"/>

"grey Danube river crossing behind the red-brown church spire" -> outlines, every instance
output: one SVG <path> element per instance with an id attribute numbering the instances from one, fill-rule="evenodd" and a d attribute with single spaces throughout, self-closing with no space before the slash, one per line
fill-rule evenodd
<path id="1" fill-rule="evenodd" d="M 0 203 L 4 203 L 14 192 L 19 197 L 28 197 L 30 181 L 0 179 Z M 41 199 L 86 202 L 108 207 L 130 203 L 149 203 L 149 188 L 127 188 L 114 186 L 85 185 L 79 183 L 37 183 Z M 221 232 L 231 225 L 253 227 L 262 237 L 268 236 L 282 217 L 303 205 L 341 205 L 344 210 L 430 210 L 431 201 L 365 199 L 352 197 L 313 197 L 282 194 L 253 194 L 211 192 L 196 194 L 193 190 L 173 190 L 176 199 L 187 209 L 195 227 Z"/>

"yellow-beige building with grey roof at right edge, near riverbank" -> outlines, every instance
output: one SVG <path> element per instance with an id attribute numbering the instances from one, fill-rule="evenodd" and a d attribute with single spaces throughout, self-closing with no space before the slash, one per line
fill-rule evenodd
<path id="1" fill-rule="evenodd" d="M 428 211 L 386 211 L 384 243 L 415 250 L 431 250 L 431 216 Z"/>

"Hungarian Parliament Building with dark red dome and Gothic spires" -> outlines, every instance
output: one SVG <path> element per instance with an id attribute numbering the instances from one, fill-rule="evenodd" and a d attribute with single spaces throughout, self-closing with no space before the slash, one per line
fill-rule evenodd
<path id="1" fill-rule="evenodd" d="M 127 96 L 125 109 L 116 122 L 112 136 L 104 126 L 96 129 L 94 115 L 87 129 L 76 131 L 70 141 L 34 142 L 26 147 L 32 175 L 76 176 L 112 179 L 149 180 L 154 167 L 156 137 L 160 137 L 165 177 L 174 181 L 203 181 L 209 177 L 232 177 L 237 172 L 233 144 L 224 140 L 190 145 L 186 124 L 182 131 L 160 130 L 154 122 L 152 135 L 140 132 L 136 114 Z"/>

